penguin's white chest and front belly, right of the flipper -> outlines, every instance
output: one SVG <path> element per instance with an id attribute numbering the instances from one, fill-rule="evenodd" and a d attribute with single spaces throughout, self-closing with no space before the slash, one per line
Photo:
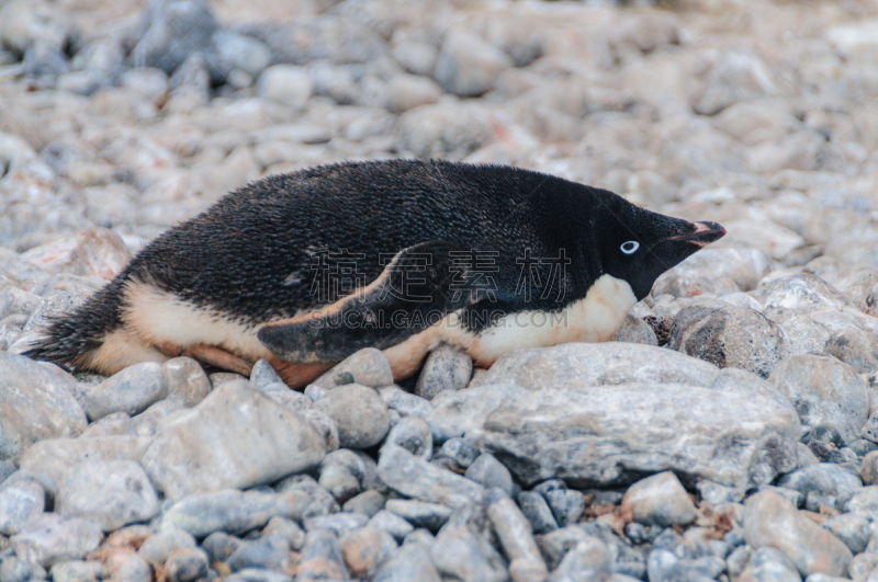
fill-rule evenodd
<path id="1" fill-rule="evenodd" d="M 627 282 L 603 275 L 583 299 L 561 310 L 507 313 L 479 333 L 466 329 L 459 313 L 451 313 L 436 326 L 384 350 L 384 355 L 397 378 L 416 372 L 421 358 L 441 342 L 460 347 L 477 366 L 487 367 L 513 350 L 606 342 L 612 339 L 635 303 Z"/>

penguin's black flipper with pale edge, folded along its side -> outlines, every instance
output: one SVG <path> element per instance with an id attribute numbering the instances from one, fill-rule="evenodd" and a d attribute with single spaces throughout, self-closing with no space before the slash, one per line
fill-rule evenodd
<path id="1" fill-rule="evenodd" d="M 303 364 L 396 345 L 484 296 L 468 286 L 469 265 L 459 264 L 458 253 L 442 241 L 403 249 L 368 286 L 317 311 L 266 324 L 257 336 L 277 356 Z"/>

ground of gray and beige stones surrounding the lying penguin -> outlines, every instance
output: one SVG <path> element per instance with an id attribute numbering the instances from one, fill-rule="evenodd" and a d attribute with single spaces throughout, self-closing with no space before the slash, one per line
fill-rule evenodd
<path id="1" fill-rule="evenodd" d="M 637 3 L 635 3 L 637 4 Z M 0 582 L 878 580 L 878 3 L 0 1 Z M 228 190 L 519 164 L 729 235 L 607 344 L 304 393 L 18 355 Z"/>

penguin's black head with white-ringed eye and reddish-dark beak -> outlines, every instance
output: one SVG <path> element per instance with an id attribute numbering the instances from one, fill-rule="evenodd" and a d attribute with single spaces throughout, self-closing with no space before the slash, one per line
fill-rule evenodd
<path id="1" fill-rule="evenodd" d="M 638 300 L 658 275 L 725 235 L 717 222 L 689 222 L 634 206 L 616 195 L 598 213 L 603 271 L 631 285 Z"/>

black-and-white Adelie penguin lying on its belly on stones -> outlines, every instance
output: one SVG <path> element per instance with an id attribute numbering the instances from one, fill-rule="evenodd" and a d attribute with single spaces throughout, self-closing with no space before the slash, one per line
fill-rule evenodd
<path id="1" fill-rule="evenodd" d="M 655 279 L 725 230 L 528 170 L 349 162 L 228 194 L 144 248 L 29 355 L 113 374 L 190 355 L 301 387 L 382 350 L 399 380 L 441 342 L 480 366 L 614 336 Z"/>

